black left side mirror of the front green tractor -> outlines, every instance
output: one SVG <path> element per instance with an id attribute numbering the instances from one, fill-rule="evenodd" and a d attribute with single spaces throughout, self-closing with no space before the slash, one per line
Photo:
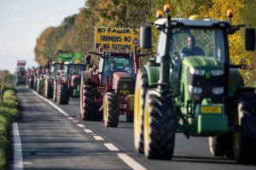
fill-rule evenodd
<path id="1" fill-rule="evenodd" d="M 142 26 L 140 30 L 140 47 L 141 48 L 151 48 L 151 27 Z"/>

